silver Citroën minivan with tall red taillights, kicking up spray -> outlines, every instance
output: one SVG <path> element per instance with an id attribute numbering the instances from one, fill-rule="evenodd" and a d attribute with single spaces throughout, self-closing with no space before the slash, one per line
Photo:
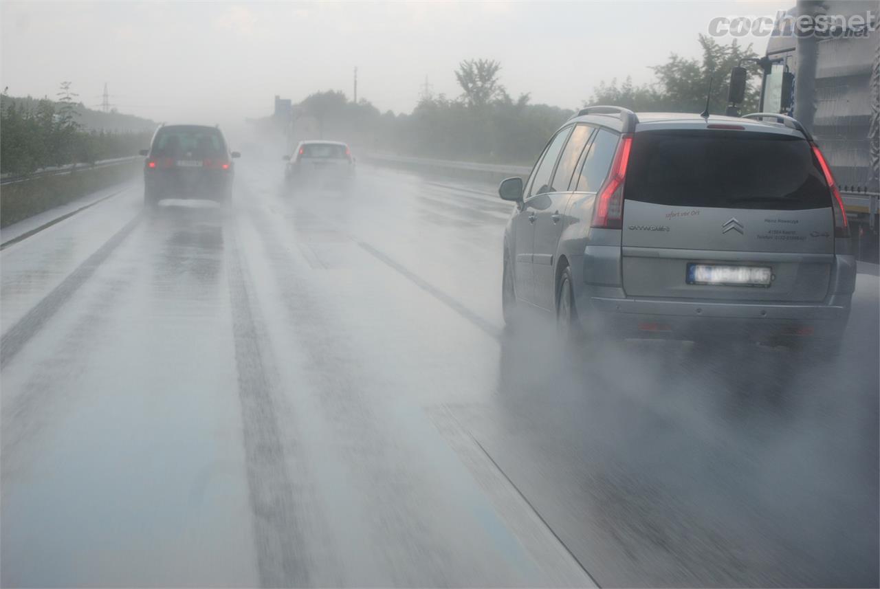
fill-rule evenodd
<path id="1" fill-rule="evenodd" d="M 531 306 L 566 337 L 840 345 L 855 281 L 847 216 L 790 117 L 590 106 L 499 194 L 517 202 L 508 321 Z"/>

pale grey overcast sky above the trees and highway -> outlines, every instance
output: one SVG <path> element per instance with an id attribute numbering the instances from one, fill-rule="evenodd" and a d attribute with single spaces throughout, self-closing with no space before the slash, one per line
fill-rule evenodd
<path id="1" fill-rule="evenodd" d="M 104 83 L 121 112 L 156 120 L 240 121 L 275 94 L 358 97 L 409 112 L 428 76 L 458 95 L 458 62 L 502 63 L 502 84 L 575 107 L 601 81 L 651 78 L 670 53 L 700 54 L 716 16 L 773 15 L 790 2 L 2 3 L 2 86 L 54 96 L 70 80 L 86 105 Z M 766 39 L 755 41 L 760 53 Z M 730 42 L 730 38 L 723 39 Z"/>

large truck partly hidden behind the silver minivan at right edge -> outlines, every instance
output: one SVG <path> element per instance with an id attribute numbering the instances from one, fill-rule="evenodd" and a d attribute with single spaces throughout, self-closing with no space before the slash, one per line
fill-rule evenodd
<path id="1" fill-rule="evenodd" d="M 804 14 L 832 17 L 831 25 L 803 34 L 794 25 Z M 780 13 L 759 60 L 760 112 L 793 116 L 809 129 L 847 208 L 854 251 L 870 262 L 877 262 L 880 232 L 878 20 L 877 0 L 798 2 Z"/>

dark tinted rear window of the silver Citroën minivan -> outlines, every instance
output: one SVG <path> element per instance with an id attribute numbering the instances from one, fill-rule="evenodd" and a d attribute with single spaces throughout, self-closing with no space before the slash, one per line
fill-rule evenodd
<path id="1" fill-rule="evenodd" d="M 743 131 L 642 131 L 624 198 L 674 207 L 800 210 L 831 207 L 831 192 L 797 137 Z"/>

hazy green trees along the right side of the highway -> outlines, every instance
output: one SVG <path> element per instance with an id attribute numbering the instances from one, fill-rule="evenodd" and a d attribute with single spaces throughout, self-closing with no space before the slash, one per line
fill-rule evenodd
<path id="1" fill-rule="evenodd" d="M 742 64 L 754 75 L 746 89 L 743 112 L 757 110 L 759 97 L 758 55 L 752 46 L 734 40 L 730 45 L 700 35 L 700 58 L 670 55 L 653 66 L 654 80 L 636 85 L 627 77 L 622 83 L 602 82 L 584 105 L 618 105 L 635 111 L 700 113 L 706 106 L 709 81 L 711 113 L 724 113 L 730 69 Z M 752 60 L 752 61 L 750 61 Z M 294 142 L 319 138 L 348 141 L 360 150 L 422 157 L 532 164 L 550 135 L 575 113 L 558 106 L 532 104 L 529 94 L 511 97 L 501 83 L 502 65 L 495 60 L 474 59 L 458 64 L 457 97 L 423 96 L 412 113 L 380 111 L 368 100 L 352 103 L 341 91 L 314 93 L 294 107 L 288 126 Z M 299 125 L 312 120 L 311 128 Z M 268 120 L 269 121 L 269 120 Z M 300 128 L 302 127 L 302 128 Z M 304 131 L 308 128 L 308 131 Z"/>

